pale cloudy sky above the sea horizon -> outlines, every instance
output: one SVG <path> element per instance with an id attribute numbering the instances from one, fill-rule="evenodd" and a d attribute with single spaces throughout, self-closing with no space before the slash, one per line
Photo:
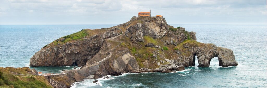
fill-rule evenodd
<path id="1" fill-rule="evenodd" d="M 121 24 L 151 10 L 168 24 L 267 25 L 266 0 L 0 0 L 0 25 Z"/>

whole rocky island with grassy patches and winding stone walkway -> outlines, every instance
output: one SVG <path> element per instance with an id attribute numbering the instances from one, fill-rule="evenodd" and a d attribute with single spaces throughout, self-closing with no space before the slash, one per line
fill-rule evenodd
<path id="1" fill-rule="evenodd" d="M 78 65 L 81 69 L 64 71 L 63 80 L 49 79 L 53 87 L 70 87 L 90 77 L 181 71 L 195 66 L 195 57 L 199 67 L 209 67 L 214 57 L 219 66 L 238 65 L 232 50 L 197 42 L 195 34 L 168 25 L 163 17 L 134 16 L 121 25 L 84 29 L 56 39 L 30 58 L 30 66 Z"/>

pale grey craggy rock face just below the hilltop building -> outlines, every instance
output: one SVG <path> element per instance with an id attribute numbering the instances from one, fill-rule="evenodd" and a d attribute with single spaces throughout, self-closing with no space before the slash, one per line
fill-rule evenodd
<path id="1" fill-rule="evenodd" d="M 143 36 L 151 36 L 152 38 L 162 38 L 168 31 L 167 22 L 164 18 L 157 17 L 138 17 L 140 21 L 135 25 L 127 28 L 125 34 L 131 36 L 133 43 L 144 42 Z"/>

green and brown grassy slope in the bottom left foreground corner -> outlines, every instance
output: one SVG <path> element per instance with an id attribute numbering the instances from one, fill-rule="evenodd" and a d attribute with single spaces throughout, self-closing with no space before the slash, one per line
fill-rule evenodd
<path id="1" fill-rule="evenodd" d="M 29 74 L 25 70 L 29 69 L 15 69 L 11 67 L 0 67 L 0 88 L 53 88 L 48 81 L 42 76 L 24 76 L 13 75 L 11 72 L 20 74 Z"/>

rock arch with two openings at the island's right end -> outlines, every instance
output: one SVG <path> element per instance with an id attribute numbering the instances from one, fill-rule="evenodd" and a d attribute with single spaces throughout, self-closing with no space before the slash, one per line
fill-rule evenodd
<path id="1" fill-rule="evenodd" d="M 198 67 L 209 67 L 211 59 L 214 57 L 218 57 L 219 66 L 228 67 L 238 65 L 235 61 L 233 51 L 227 48 L 217 47 L 214 44 L 210 44 L 210 46 L 205 47 L 194 47 L 192 50 L 192 66 L 195 66 L 195 56 L 197 56 L 198 59 Z"/>

